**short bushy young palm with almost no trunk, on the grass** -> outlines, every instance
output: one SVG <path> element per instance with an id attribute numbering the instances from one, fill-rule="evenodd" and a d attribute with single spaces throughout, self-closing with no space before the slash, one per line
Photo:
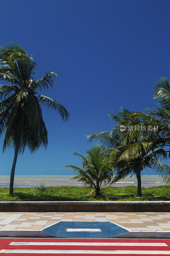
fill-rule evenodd
<path id="1" fill-rule="evenodd" d="M 103 195 L 101 185 L 111 182 L 113 178 L 113 168 L 111 156 L 108 155 L 103 147 L 92 147 L 86 151 L 86 155 L 82 156 L 73 152 L 75 156 L 81 158 L 81 168 L 74 165 L 66 165 L 66 167 L 74 170 L 77 174 L 72 180 L 83 182 L 84 185 L 93 187 L 91 194 L 95 196 Z"/>

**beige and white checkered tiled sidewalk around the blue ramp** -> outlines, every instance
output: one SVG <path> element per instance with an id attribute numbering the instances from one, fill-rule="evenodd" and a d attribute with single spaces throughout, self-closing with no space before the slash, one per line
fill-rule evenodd
<path id="1" fill-rule="evenodd" d="M 113 221 L 130 230 L 170 231 L 170 212 L 0 212 L 0 229 L 41 229 L 57 221 Z"/>

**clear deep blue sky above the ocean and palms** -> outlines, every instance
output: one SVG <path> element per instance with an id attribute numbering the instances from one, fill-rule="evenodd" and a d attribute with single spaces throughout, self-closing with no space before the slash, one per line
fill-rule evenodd
<path id="1" fill-rule="evenodd" d="M 35 56 L 35 79 L 57 71 L 46 95 L 71 114 L 65 124 L 43 112 L 48 148 L 26 150 L 16 175 L 72 174 L 64 168 L 79 164 L 72 151 L 84 154 L 86 134 L 111 130 L 107 114 L 156 106 L 154 83 L 170 79 L 169 10 L 166 0 L 1 1 L 0 44 L 15 41 Z M 10 175 L 13 150 L 0 156 L 0 175 Z"/>

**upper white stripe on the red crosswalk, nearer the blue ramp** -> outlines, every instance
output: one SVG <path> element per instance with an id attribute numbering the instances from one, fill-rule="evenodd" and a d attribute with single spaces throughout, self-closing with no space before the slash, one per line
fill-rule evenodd
<path id="1" fill-rule="evenodd" d="M 47 243 L 47 242 L 11 242 L 10 245 L 95 245 L 95 246 L 168 246 L 165 243 Z"/>

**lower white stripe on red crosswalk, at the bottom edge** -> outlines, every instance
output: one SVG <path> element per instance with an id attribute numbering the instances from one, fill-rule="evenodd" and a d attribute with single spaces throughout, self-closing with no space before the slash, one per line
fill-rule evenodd
<path id="1" fill-rule="evenodd" d="M 170 251 L 118 251 L 118 250 L 110 250 L 110 251 L 101 251 L 101 250 L 15 250 L 15 249 L 2 249 L 0 251 L 0 253 L 48 253 L 48 254 L 52 254 L 55 253 L 57 254 L 69 254 L 69 253 L 74 253 L 74 254 L 81 254 L 81 253 L 85 253 L 85 254 L 163 254 L 163 255 L 170 255 Z"/>

